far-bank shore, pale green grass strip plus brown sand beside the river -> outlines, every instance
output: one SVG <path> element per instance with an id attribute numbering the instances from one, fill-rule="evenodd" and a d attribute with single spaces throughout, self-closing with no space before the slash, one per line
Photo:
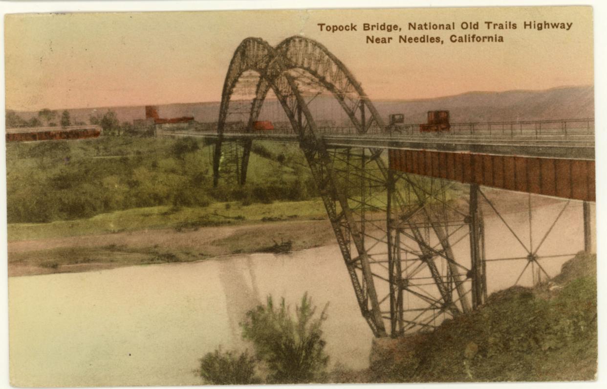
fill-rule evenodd
<path id="1" fill-rule="evenodd" d="M 527 196 L 487 190 L 501 212 Z M 534 198 L 534 208 L 554 203 Z M 463 199 L 462 199 L 463 203 Z M 462 214 L 465 204 L 458 204 Z M 481 204 L 486 218 L 495 217 Z M 206 207 L 146 207 L 87 219 L 8 224 L 8 275 L 87 272 L 120 266 L 192 262 L 214 256 L 304 250 L 334 243 L 320 199 Z"/>

